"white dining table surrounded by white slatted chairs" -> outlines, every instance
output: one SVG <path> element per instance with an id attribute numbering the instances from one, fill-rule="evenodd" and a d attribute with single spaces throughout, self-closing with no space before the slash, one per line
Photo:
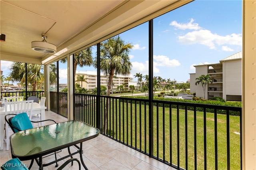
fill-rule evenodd
<path id="1" fill-rule="evenodd" d="M 33 103 L 32 112 L 33 114 L 41 114 L 41 120 L 45 120 L 45 109 L 45 106 L 42 106 L 39 103 Z M 0 107 L 0 150 L 4 149 L 4 116 L 5 108 Z M 44 126 L 44 122 L 42 122 L 41 125 Z"/>

